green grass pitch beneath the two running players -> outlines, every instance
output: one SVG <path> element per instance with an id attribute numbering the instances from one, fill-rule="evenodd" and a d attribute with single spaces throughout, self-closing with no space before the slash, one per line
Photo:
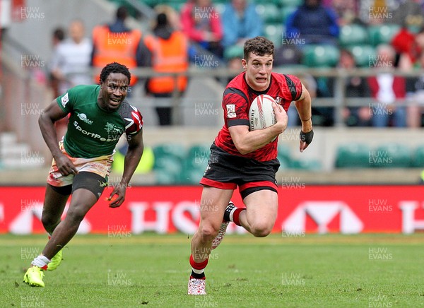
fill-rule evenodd
<path id="1" fill-rule="evenodd" d="M 228 235 L 198 297 L 187 295 L 190 239 L 77 235 L 32 288 L 23 274 L 47 237 L 1 235 L 0 306 L 424 307 L 423 235 Z"/>

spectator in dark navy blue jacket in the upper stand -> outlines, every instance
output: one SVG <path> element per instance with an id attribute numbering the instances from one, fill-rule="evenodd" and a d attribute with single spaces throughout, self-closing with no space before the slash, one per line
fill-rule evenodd
<path id="1" fill-rule="evenodd" d="M 287 39 L 300 39 L 303 44 L 337 44 L 339 27 L 338 16 L 331 8 L 321 4 L 321 0 L 305 0 L 285 24 Z"/>

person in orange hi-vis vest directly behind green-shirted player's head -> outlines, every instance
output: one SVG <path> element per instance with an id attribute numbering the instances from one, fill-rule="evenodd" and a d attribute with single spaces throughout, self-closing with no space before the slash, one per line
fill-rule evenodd
<path id="1" fill-rule="evenodd" d="M 128 16 L 126 7 L 117 9 L 117 19 L 110 25 L 98 25 L 93 29 L 93 54 L 91 65 L 98 69 L 95 83 L 99 82 L 100 70 L 114 61 L 131 69 L 143 66 L 140 42 L 141 31 L 129 29 L 125 25 Z M 135 85 L 137 78 L 131 78 L 130 86 Z"/>

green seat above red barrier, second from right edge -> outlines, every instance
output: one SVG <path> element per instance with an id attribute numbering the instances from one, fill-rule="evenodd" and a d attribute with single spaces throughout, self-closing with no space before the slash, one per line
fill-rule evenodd
<path id="1" fill-rule="evenodd" d="M 370 152 L 370 165 L 379 168 L 408 168 L 412 166 L 411 150 L 399 143 L 378 146 Z"/>

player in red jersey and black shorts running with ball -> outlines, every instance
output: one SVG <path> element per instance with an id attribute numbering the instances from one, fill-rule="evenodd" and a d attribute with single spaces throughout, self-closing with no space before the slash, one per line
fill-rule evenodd
<path id="1" fill-rule="evenodd" d="M 208 167 L 200 181 L 204 186 L 201 220 L 192 239 L 189 295 L 206 294 L 208 255 L 220 244 L 230 222 L 255 237 L 271 232 L 278 212 L 276 137 L 287 127 L 286 112 L 292 101 L 302 120 L 300 152 L 312 141 L 310 94 L 297 77 L 272 72 L 273 52 L 273 43 L 265 37 L 247 40 L 242 59 L 245 71 L 232 79 L 223 93 L 224 125 L 211 146 Z M 249 131 L 249 107 L 261 94 L 276 100 L 276 124 Z M 230 201 L 237 186 L 245 208 Z"/>

